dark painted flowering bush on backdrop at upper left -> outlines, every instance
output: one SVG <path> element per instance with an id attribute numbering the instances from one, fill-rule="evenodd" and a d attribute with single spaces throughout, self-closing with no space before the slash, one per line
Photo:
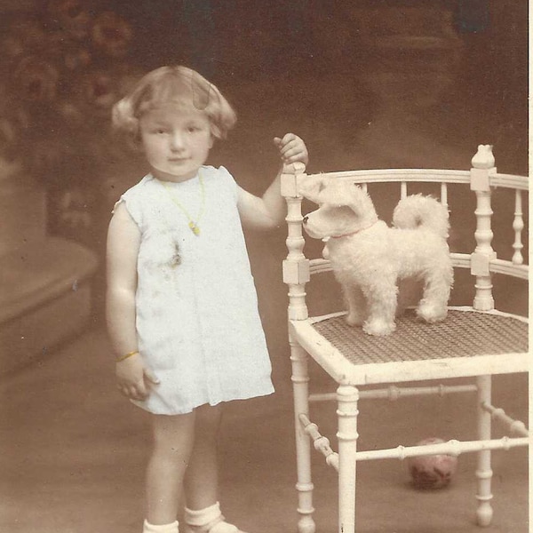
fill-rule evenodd
<path id="1" fill-rule="evenodd" d="M 0 36 L 0 156 L 40 180 L 56 223 L 76 230 L 91 225 L 95 178 L 123 157 L 110 111 L 139 76 L 134 32 L 82 0 L 38 5 L 13 15 Z"/>

